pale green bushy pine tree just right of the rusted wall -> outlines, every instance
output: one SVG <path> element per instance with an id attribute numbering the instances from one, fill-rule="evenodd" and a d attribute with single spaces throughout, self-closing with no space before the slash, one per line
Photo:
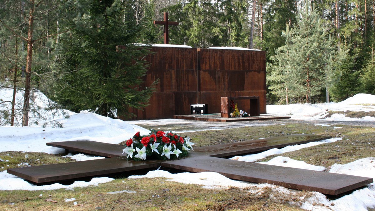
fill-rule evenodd
<path id="1" fill-rule="evenodd" d="M 273 83 L 270 89 L 281 98 L 298 102 L 313 102 L 321 90 L 331 87 L 335 81 L 335 65 L 340 63 L 346 51 L 338 51 L 335 40 L 328 33 L 314 7 L 307 3 L 297 17 L 297 25 L 283 32 L 286 45 L 272 58 Z"/>

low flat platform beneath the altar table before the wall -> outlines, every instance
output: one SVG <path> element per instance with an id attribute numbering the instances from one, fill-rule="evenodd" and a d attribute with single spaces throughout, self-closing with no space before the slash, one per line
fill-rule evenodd
<path id="1" fill-rule="evenodd" d="M 243 122 L 243 121 L 256 121 L 256 120 L 269 120 L 269 119 L 290 119 L 290 116 L 248 116 L 236 118 L 224 118 L 219 113 L 215 114 L 199 114 L 199 115 L 174 115 L 174 119 L 198 120 L 208 122 Z"/>

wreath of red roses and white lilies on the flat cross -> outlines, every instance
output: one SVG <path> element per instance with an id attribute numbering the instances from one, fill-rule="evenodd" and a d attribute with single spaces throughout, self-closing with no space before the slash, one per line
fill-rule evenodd
<path id="1" fill-rule="evenodd" d="M 172 132 L 151 130 L 146 136 L 140 136 L 137 132 L 133 138 L 124 144 L 123 154 L 131 160 L 166 160 L 186 157 L 192 150 L 194 143 L 190 137 L 182 137 Z"/>

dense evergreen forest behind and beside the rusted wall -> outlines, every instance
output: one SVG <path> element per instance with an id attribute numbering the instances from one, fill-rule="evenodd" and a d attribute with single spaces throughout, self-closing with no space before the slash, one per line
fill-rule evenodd
<path id="1" fill-rule="evenodd" d="M 1 86 L 13 89 L 1 125 L 28 125 L 35 92 L 47 108 L 129 115 L 152 95 L 135 43 L 266 51 L 267 103 L 342 101 L 375 94 L 375 0 L 0 0 Z M 118 45 L 125 46 L 124 49 Z M 233 81 L 236 79 L 233 78 Z M 16 92 L 24 94 L 17 101 Z M 16 114 L 22 121 L 16 121 Z"/>

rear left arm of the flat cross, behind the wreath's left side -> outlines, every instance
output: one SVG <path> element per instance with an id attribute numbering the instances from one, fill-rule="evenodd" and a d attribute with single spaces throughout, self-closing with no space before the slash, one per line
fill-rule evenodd
<path id="1" fill-rule="evenodd" d="M 122 150 L 126 148 L 123 145 L 93 142 L 88 140 L 78 140 L 70 142 L 49 142 L 47 146 L 54 146 L 71 151 L 83 152 L 86 154 L 99 155 L 103 157 L 123 156 Z"/>

